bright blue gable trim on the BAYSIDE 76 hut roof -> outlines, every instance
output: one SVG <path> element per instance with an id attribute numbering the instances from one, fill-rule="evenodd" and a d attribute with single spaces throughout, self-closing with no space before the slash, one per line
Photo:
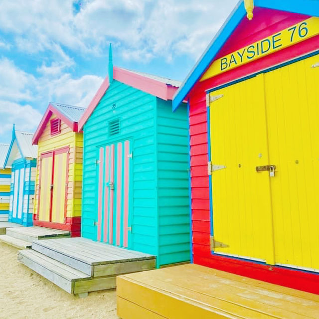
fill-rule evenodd
<path id="1" fill-rule="evenodd" d="M 319 16 L 318 0 L 255 0 L 255 7 L 264 7 L 275 10 L 289 11 L 311 16 Z M 194 84 L 205 72 L 211 61 L 222 48 L 229 36 L 236 29 L 242 18 L 246 16 L 243 0 L 240 0 L 225 23 L 222 25 L 216 36 L 208 45 L 203 55 L 199 58 L 194 68 L 190 71 L 184 82 L 181 84 L 173 98 L 173 111 L 185 99 Z"/>

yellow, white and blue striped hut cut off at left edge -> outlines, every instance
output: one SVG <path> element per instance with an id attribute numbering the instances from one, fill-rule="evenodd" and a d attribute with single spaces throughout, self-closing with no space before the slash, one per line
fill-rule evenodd
<path id="1" fill-rule="evenodd" d="M 11 167 L 3 167 L 8 150 L 9 144 L 0 143 L 0 222 L 9 217 Z"/>

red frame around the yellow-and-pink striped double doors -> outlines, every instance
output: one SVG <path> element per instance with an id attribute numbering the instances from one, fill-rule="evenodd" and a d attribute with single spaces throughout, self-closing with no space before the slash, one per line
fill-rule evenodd
<path id="1" fill-rule="evenodd" d="M 53 198 L 53 188 L 50 189 L 50 211 L 49 211 L 49 221 L 39 220 L 40 214 L 40 200 L 41 200 L 41 175 L 42 175 L 42 159 L 52 157 L 52 171 L 51 171 L 51 185 L 53 186 L 54 182 L 54 159 L 56 154 L 63 154 L 66 153 L 66 178 L 65 178 L 65 195 L 64 195 L 64 223 L 55 223 L 52 222 L 52 198 Z M 38 194 L 38 201 L 37 201 L 37 214 L 36 214 L 36 225 L 43 226 L 43 227 L 52 227 L 53 225 L 61 226 L 65 225 L 66 221 L 66 213 L 67 213 L 67 193 L 68 193 L 68 182 L 69 182 L 69 162 L 70 162 L 70 147 L 62 147 L 60 149 L 56 149 L 53 151 L 44 152 L 40 155 L 40 162 L 39 162 L 39 194 Z M 60 227 L 60 229 L 63 229 Z"/>

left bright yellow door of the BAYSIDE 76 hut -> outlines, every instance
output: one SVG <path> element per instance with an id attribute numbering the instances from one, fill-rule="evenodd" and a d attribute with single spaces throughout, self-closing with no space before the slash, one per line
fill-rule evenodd
<path id="1" fill-rule="evenodd" d="M 214 252 L 274 263 L 264 75 L 210 93 Z M 223 168 L 223 166 L 225 166 Z"/>

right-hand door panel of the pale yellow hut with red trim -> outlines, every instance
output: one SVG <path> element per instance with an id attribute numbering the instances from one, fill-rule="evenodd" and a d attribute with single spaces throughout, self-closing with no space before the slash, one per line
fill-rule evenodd
<path id="1" fill-rule="evenodd" d="M 51 222 L 63 224 L 65 222 L 65 202 L 67 183 L 67 151 L 54 154 L 54 173 L 52 189 Z"/>

